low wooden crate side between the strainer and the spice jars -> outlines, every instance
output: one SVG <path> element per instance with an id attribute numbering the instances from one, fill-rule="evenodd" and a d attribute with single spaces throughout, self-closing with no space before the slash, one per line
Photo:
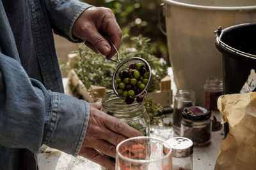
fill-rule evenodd
<path id="1" fill-rule="evenodd" d="M 156 103 L 161 104 L 163 107 L 170 107 L 172 104 L 172 90 L 150 92 L 147 97 L 152 97 Z"/>

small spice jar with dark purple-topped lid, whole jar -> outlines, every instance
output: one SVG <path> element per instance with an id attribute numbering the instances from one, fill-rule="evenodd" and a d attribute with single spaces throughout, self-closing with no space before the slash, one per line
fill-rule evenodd
<path id="1" fill-rule="evenodd" d="M 189 138 L 194 145 L 211 141 L 211 111 L 201 106 L 191 106 L 182 111 L 180 135 Z"/>

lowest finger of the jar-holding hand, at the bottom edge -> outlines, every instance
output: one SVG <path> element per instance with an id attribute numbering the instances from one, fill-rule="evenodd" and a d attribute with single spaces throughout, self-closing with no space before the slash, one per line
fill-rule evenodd
<path id="1" fill-rule="evenodd" d="M 101 166 L 104 166 L 108 169 L 115 170 L 115 162 L 108 159 L 107 157 L 104 157 L 93 148 L 83 148 L 83 152 L 80 152 L 79 155 L 92 160 L 93 162 L 100 164 Z"/>

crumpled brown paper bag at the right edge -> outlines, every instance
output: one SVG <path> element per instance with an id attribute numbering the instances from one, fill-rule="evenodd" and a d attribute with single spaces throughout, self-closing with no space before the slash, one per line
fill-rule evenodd
<path id="1" fill-rule="evenodd" d="M 256 92 L 220 96 L 218 109 L 229 132 L 214 170 L 256 169 Z"/>

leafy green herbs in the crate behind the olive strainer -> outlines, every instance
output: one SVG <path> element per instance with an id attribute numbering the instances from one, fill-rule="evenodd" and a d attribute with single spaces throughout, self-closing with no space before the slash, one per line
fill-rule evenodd
<path id="1" fill-rule="evenodd" d="M 123 40 L 129 38 L 128 35 L 123 36 Z M 136 36 L 131 38 L 132 45 L 130 48 L 121 45 L 119 50 L 120 60 L 125 60 L 130 57 L 141 57 L 148 61 L 152 68 L 152 81 L 148 89 L 149 92 L 159 89 L 159 81 L 167 74 L 166 62 L 161 62 L 155 55 L 152 54 L 149 38 Z M 111 81 L 113 72 L 117 64 L 106 60 L 106 57 L 97 54 L 90 50 L 85 45 L 79 46 L 75 53 L 78 53 L 76 63 L 72 64 L 74 69 L 83 82 L 86 89 L 90 89 L 91 85 L 99 85 L 111 90 Z M 116 56 L 112 59 L 116 60 Z M 89 90 L 90 91 L 90 90 Z"/>

